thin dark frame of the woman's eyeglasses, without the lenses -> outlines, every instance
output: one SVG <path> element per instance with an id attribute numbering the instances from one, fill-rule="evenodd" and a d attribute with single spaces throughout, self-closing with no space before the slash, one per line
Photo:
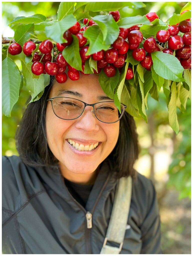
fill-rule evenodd
<path id="1" fill-rule="evenodd" d="M 52 104 L 52 102 L 53 102 L 53 99 L 55 99 L 55 98 L 68 98 L 68 99 L 78 100 L 78 99 L 75 99 L 75 98 L 71 98 L 71 97 L 62 97 L 62 96 L 56 96 L 56 97 L 50 98 L 50 99 L 48 99 L 47 101 L 51 101 L 51 105 L 52 105 L 52 110 L 53 110 L 53 112 L 54 112 L 54 109 L 53 109 L 53 104 Z M 96 105 L 96 104 L 98 104 L 98 103 L 102 103 L 102 102 L 113 102 L 113 101 L 100 101 L 100 102 L 96 102 L 96 103 L 93 103 L 93 104 L 88 104 L 88 103 L 86 103 L 86 102 L 84 102 L 84 101 L 82 101 L 82 100 L 78 100 L 78 101 L 81 101 L 82 103 L 84 103 L 84 108 L 83 108 L 83 110 L 81 110 L 82 113 L 84 112 L 84 109 L 85 109 L 86 106 L 92 106 L 92 107 L 93 107 L 93 110 L 94 110 L 94 105 Z M 116 123 L 116 122 L 118 122 L 118 121 L 122 118 L 122 116 L 123 116 L 123 114 L 124 114 L 124 112 L 125 112 L 125 109 L 126 109 L 126 107 L 127 107 L 125 104 L 123 104 L 123 103 L 121 103 L 121 104 L 124 106 L 124 109 L 123 109 L 123 112 L 121 113 L 121 116 L 119 117 L 119 119 L 118 119 L 117 121 L 115 121 L 115 122 L 107 123 L 107 122 L 103 122 L 103 121 L 99 120 L 98 117 L 96 116 L 95 111 L 94 111 L 94 115 L 95 115 L 95 117 L 96 117 L 100 122 L 102 122 L 102 123 L 106 123 L 106 124 Z M 118 112 L 119 112 L 119 109 L 118 109 Z M 82 113 L 81 113 L 77 118 L 79 118 L 79 117 L 82 115 Z M 58 118 L 63 119 L 63 120 L 75 120 L 75 119 L 77 119 L 77 118 L 73 118 L 73 119 L 64 119 L 64 118 L 59 117 L 55 112 L 54 112 L 54 114 L 55 114 Z M 118 113 L 118 114 L 119 114 L 119 113 Z"/>

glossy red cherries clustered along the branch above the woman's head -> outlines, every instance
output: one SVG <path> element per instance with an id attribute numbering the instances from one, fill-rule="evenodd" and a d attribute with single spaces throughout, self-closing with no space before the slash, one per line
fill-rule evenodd
<path id="1" fill-rule="evenodd" d="M 113 16 L 116 22 L 120 19 L 118 10 L 109 12 L 109 14 Z M 154 12 L 148 13 L 146 17 L 150 22 L 159 18 Z M 164 44 L 164 48 L 160 47 L 153 37 L 145 39 L 142 32 L 139 30 L 140 27 L 135 25 L 131 28 L 120 28 L 119 36 L 113 42 L 110 49 L 106 51 L 101 50 L 92 55 L 86 55 L 89 46 L 85 46 L 87 39 L 84 37 L 84 31 L 88 29 L 89 26 L 95 26 L 97 24 L 87 18 L 83 20 L 83 23 L 85 26 L 82 28 L 80 23 L 77 22 L 74 26 L 65 31 L 63 38 L 65 38 L 67 42 L 63 44 L 57 43 L 56 46 L 54 45 L 55 51 L 53 50 L 53 44 L 50 40 L 42 41 L 39 45 L 39 52 L 35 52 L 33 56 L 31 71 L 35 75 L 42 73 L 47 73 L 52 76 L 55 75 L 56 81 L 59 83 L 64 83 L 67 80 L 67 74 L 71 80 L 78 80 L 80 76 L 79 71 L 71 67 L 62 55 L 63 49 L 72 43 L 72 34 L 79 40 L 83 70 L 80 72 L 82 74 L 84 74 L 85 61 L 92 56 L 92 59 L 97 61 L 97 70 L 93 70 L 94 73 L 99 74 L 103 68 L 106 76 L 113 77 L 116 73 L 116 68 L 121 72 L 125 64 L 125 59 L 127 58 L 128 50 L 133 50 L 133 58 L 140 61 L 142 67 L 147 70 L 151 70 L 151 66 L 153 65 L 151 53 L 160 51 L 160 49 L 163 49 L 164 53 L 171 55 L 174 54 L 173 50 L 176 50 L 175 57 L 178 58 L 181 65 L 185 69 L 191 68 L 191 23 L 189 20 L 184 20 L 179 24 L 169 26 L 167 30 L 157 32 L 156 39 L 162 45 Z M 183 37 L 178 35 L 179 31 L 185 33 Z M 143 39 L 145 39 L 144 42 L 142 42 Z M 141 43 L 143 43 L 143 48 L 139 48 Z M 23 45 L 23 52 L 26 56 L 30 56 L 35 49 L 36 44 L 33 41 L 27 41 Z M 51 51 L 53 52 L 52 55 Z M 22 47 L 17 43 L 13 43 L 8 47 L 8 52 L 12 55 L 20 54 Z M 67 74 L 65 73 L 66 67 L 68 67 Z M 84 75 L 88 76 L 89 74 Z M 126 72 L 126 79 L 132 79 L 133 76 L 133 70 L 129 67 Z"/>

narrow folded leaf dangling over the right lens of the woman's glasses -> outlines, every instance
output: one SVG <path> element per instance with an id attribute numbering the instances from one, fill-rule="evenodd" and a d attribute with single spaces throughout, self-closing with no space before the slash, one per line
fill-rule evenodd
<path id="1" fill-rule="evenodd" d="M 119 112 L 121 113 L 121 93 L 123 90 L 123 85 L 125 82 L 125 77 L 126 77 L 126 73 L 127 73 L 127 68 L 128 68 L 129 63 L 125 63 L 125 65 L 123 66 L 122 70 L 121 70 L 121 74 L 119 77 L 119 81 L 116 85 L 115 88 L 115 98 L 114 98 L 114 102 L 116 107 L 119 109 Z"/>

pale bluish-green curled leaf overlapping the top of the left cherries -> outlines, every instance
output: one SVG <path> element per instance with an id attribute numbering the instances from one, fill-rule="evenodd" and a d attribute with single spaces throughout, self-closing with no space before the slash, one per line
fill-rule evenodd
<path id="1" fill-rule="evenodd" d="M 67 41 L 63 38 L 64 32 L 76 23 L 77 20 L 72 14 L 67 15 L 65 18 L 55 22 L 53 25 L 45 27 L 46 36 L 60 44 L 65 43 Z"/>

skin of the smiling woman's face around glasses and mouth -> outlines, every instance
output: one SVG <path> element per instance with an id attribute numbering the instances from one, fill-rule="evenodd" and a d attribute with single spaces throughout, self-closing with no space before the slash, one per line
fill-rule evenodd
<path id="1" fill-rule="evenodd" d="M 71 81 L 68 79 L 63 84 L 55 82 L 50 90 L 49 98 L 56 97 L 61 89 L 76 91 L 83 96 L 79 98 L 67 93 L 62 93 L 60 96 L 76 98 L 89 104 L 104 101 L 97 100 L 98 95 L 106 96 L 100 87 L 98 76 L 94 74 L 89 76 L 80 74 L 79 80 Z M 60 167 L 68 170 L 68 172 L 77 174 L 94 172 L 112 152 L 118 140 L 119 121 L 110 124 L 102 123 L 93 116 L 91 110 L 93 110 L 92 106 L 86 106 L 84 113 L 79 118 L 63 120 L 53 113 L 51 102 L 47 102 L 46 133 L 48 145 L 53 155 L 59 160 Z M 92 140 L 101 143 L 90 154 L 76 150 L 68 143 L 68 139 L 84 146 L 93 144 Z M 82 142 L 81 140 L 85 141 Z M 83 155 L 84 153 L 90 155 Z"/>

